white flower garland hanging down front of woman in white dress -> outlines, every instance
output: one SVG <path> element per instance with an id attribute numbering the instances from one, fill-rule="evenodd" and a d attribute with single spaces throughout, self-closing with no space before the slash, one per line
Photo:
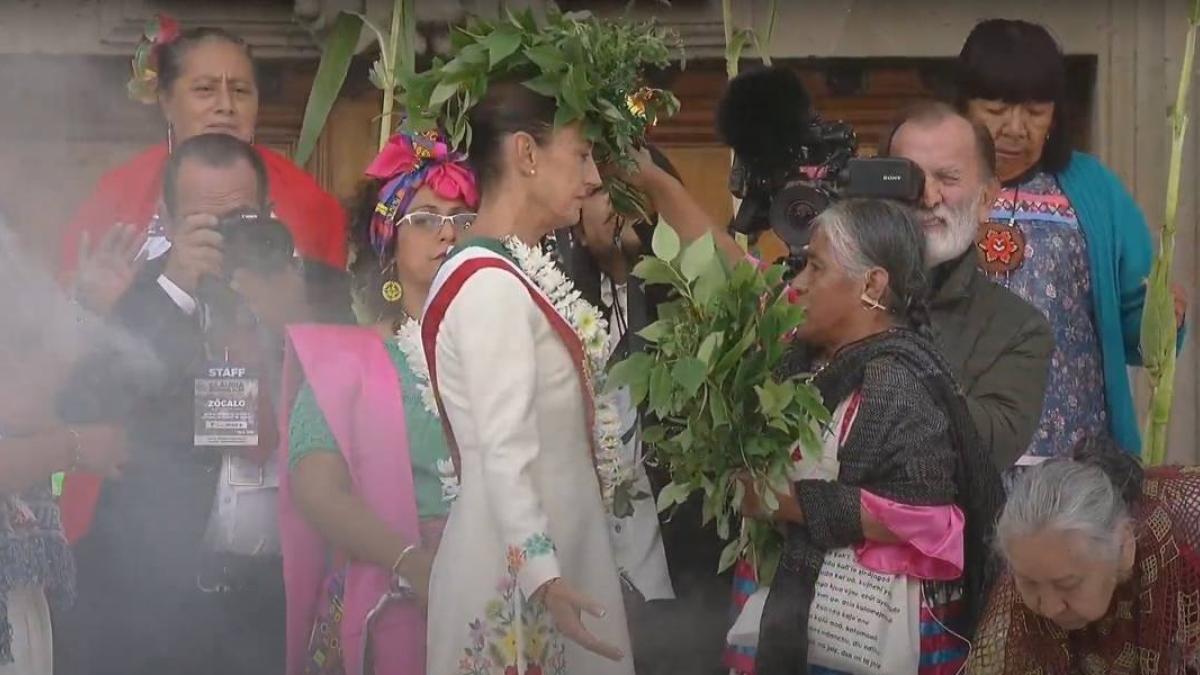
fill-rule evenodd
<path id="1" fill-rule="evenodd" d="M 566 319 L 583 342 L 583 353 L 592 374 L 592 400 L 595 406 L 595 467 L 600 478 L 600 492 L 605 507 L 613 510 L 619 490 L 630 490 L 634 484 L 632 467 L 622 456 L 620 413 L 613 396 L 604 395 L 605 368 L 608 363 L 608 322 L 600 311 L 583 299 L 570 279 L 554 261 L 538 246 L 527 246 L 516 237 L 504 240 L 504 247 L 512 255 L 517 267 L 550 298 L 554 310 Z"/>

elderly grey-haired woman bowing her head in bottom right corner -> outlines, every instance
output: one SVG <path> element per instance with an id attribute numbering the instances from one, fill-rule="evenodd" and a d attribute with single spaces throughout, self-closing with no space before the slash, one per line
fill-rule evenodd
<path id="1" fill-rule="evenodd" d="M 970 673 L 1183 674 L 1200 665 L 1200 472 L 1104 437 L 1031 468 L 996 525 L 1008 574 Z"/>

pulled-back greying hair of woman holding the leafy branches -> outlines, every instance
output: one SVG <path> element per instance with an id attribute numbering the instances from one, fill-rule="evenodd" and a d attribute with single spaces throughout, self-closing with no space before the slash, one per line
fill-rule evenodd
<path id="1" fill-rule="evenodd" d="M 834 256 L 852 275 L 871 268 L 888 273 L 887 311 L 925 338 L 930 322 L 930 280 L 925 269 L 925 234 L 916 211 L 889 199 L 845 199 L 816 219 Z"/>

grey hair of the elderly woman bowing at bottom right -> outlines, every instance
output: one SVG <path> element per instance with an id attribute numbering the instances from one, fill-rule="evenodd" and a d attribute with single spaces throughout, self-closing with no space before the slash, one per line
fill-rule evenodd
<path id="1" fill-rule="evenodd" d="M 1128 521 L 1129 507 L 1100 466 L 1052 459 L 1016 480 L 996 524 L 996 543 L 1007 557 L 1015 537 L 1078 532 L 1112 560 L 1120 552 L 1117 534 Z"/>

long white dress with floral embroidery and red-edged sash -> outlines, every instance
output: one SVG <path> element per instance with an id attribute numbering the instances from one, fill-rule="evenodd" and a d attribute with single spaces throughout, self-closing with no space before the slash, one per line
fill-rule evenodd
<path id="1" fill-rule="evenodd" d="M 427 673 L 632 675 L 580 372 L 502 250 L 451 257 L 425 315 L 461 478 L 430 581 Z M 528 599 L 556 577 L 605 607 L 583 621 L 622 662 L 559 635 Z"/>

